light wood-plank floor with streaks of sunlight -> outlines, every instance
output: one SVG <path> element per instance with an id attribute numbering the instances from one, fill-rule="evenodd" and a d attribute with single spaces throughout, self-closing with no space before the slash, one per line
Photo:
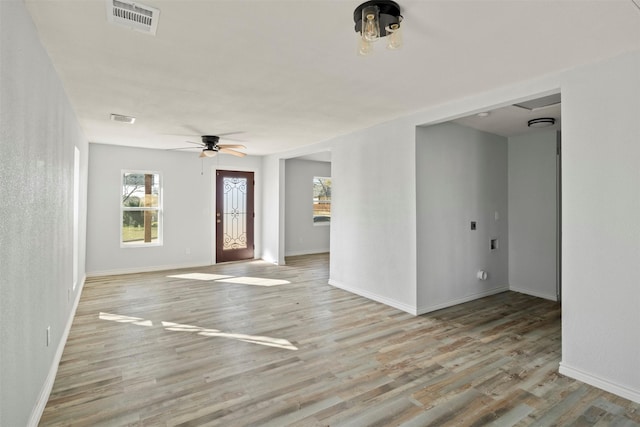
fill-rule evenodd
<path id="1" fill-rule="evenodd" d="M 315 255 L 88 280 L 40 425 L 640 425 L 558 374 L 557 303 L 414 317 L 327 279 Z"/>

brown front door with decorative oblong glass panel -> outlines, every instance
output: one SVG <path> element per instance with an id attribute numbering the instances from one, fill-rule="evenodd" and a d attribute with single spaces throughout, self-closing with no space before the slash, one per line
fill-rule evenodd
<path id="1" fill-rule="evenodd" d="M 253 172 L 216 171 L 216 262 L 253 259 Z"/>

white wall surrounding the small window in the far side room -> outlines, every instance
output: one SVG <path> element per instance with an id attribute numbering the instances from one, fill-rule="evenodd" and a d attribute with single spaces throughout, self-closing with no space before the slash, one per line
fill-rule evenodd
<path id="1" fill-rule="evenodd" d="M 313 178 L 331 177 L 331 163 L 285 162 L 285 254 L 329 252 L 329 223 L 313 223 Z"/>

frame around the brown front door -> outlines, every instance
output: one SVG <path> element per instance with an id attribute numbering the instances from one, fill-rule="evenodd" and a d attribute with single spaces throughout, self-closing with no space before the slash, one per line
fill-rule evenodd
<path id="1" fill-rule="evenodd" d="M 218 170 L 230 170 L 230 171 L 238 171 L 238 172 L 253 172 L 253 179 L 256 182 L 253 186 L 253 211 L 255 212 L 255 216 L 253 218 L 253 243 L 255 249 L 253 251 L 254 259 L 259 258 L 259 254 L 261 252 L 260 248 L 260 236 L 261 227 L 259 227 L 259 218 L 260 218 L 260 173 L 255 167 L 250 166 L 238 166 L 238 165 L 229 165 L 229 164 L 214 164 L 211 166 L 210 170 L 210 181 L 209 181 L 209 195 L 211 197 L 209 201 L 209 223 L 211 224 L 211 265 L 216 264 L 216 253 L 217 253 L 217 243 L 216 243 L 216 172 Z"/>

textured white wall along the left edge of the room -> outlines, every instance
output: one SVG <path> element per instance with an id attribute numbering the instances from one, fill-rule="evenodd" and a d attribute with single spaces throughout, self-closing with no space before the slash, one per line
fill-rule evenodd
<path id="1" fill-rule="evenodd" d="M 0 40 L 0 425 L 25 426 L 42 414 L 84 284 L 88 147 L 22 1 L 0 2 Z"/>

